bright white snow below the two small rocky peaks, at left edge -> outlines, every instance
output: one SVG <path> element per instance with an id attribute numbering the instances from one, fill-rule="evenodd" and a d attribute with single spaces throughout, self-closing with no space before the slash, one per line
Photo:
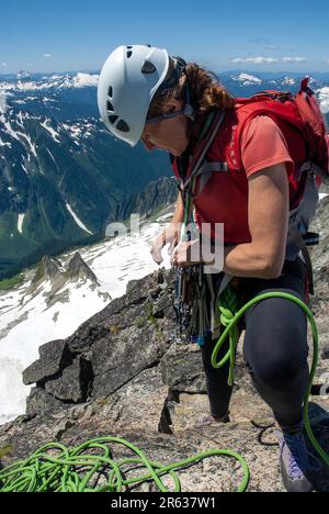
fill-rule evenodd
<path id="1" fill-rule="evenodd" d="M 87 280 L 79 287 L 68 283 L 64 302 L 48 308 L 52 283 L 43 283 L 29 297 L 24 294 L 27 286 L 0 295 L 0 425 L 25 412 L 31 388 L 23 384 L 22 373 L 38 358 L 39 346 L 68 337 L 110 301 L 105 291 L 91 288 Z"/>

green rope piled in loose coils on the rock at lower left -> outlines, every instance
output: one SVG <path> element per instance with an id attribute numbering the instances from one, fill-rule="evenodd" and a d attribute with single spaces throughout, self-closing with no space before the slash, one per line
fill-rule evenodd
<path id="1" fill-rule="evenodd" d="M 113 444 L 123 445 L 137 455 L 137 458 L 125 458 L 115 462 L 109 446 Z M 150 461 L 144 451 L 125 439 L 99 437 L 76 448 L 67 448 L 59 443 L 41 447 L 26 460 L 0 470 L 0 492 L 123 492 L 132 485 L 149 481 L 154 481 L 161 492 L 169 492 L 161 480 L 168 474 L 174 484 L 173 492 L 180 492 L 180 480 L 175 471 L 215 456 L 230 457 L 239 462 L 243 477 L 238 492 L 246 491 L 249 468 L 246 460 L 235 451 L 208 450 L 163 466 Z M 146 468 L 144 474 L 127 478 L 129 472 L 140 466 Z M 100 477 L 106 478 L 105 484 L 98 484 Z"/>

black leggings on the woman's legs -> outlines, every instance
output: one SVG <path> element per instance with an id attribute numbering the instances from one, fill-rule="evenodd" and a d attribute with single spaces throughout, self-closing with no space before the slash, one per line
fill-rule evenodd
<path id="1" fill-rule="evenodd" d="M 241 278 L 238 292 L 243 303 L 271 291 L 282 291 L 305 301 L 306 270 L 303 261 L 286 261 L 277 279 Z M 282 427 L 302 422 L 303 399 L 307 390 L 307 319 L 302 309 L 282 298 L 261 301 L 245 314 L 240 329 L 246 329 L 243 358 L 253 386 L 270 405 Z M 214 369 L 211 356 L 216 340 L 209 337 L 202 348 L 212 414 L 228 413 L 231 388 L 227 386 L 228 362 Z M 228 340 L 219 357 L 228 349 Z"/>

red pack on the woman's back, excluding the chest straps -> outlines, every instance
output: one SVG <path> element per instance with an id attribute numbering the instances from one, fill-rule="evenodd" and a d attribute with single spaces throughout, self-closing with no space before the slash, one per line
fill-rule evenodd
<path id="1" fill-rule="evenodd" d="M 307 268 L 307 294 L 314 294 L 313 266 L 307 246 L 318 244 L 319 236 L 308 232 L 318 203 L 318 189 L 329 185 L 329 133 L 314 91 L 308 87 L 309 78 L 300 82 L 297 94 L 283 91 L 261 91 L 251 98 L 238 99 L 250 111 L 240 124 L 240 134 L 248 121 L 259 114 L 270 115 L 274 121 L 284 121 L 296 128 L 306 145 L 306 160 L 297 170 L 296 181 L 305 179 L 299 204 L 290 212 L 287 244 L 299 248 Z M 239 135 L 238 135 L 239 141 Z"/>

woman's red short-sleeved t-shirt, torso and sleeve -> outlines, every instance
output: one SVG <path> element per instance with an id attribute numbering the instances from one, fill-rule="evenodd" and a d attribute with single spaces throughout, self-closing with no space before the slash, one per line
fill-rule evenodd
<path id="1" fill-rule="evenodd" d="M 194 199 L 196 223 L 209 223 L 213 237 L 214 224 L 223 223 L 227 244 L 251 241 L 248 224 L 248 177 L 282 163 L 287 166 L 288 175 L 295 168 L 282 131 L 266 115 L 256 116 L 245 127 L 240 152 L 243 172 L 213 172 L 203 192 Z M 218 161 L 214 145 L 208 152 L 208 159 Z M 291 199 L 293 195 L 294 192 Z M 204 227 L 203 232 L 208 233 L 208 228 Z"/>

